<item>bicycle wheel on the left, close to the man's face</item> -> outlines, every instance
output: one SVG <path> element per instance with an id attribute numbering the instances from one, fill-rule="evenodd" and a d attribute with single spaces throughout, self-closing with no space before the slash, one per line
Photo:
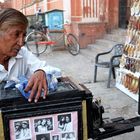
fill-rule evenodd
<path id="1" fill-rule="evenodd" d="M 38 56 L 39 54 L 44 53 L 48 48 L 47 41 L 48 38 L 46 35 L 39 31 L 29 33 L 25 39 L 28 50 Z"/>

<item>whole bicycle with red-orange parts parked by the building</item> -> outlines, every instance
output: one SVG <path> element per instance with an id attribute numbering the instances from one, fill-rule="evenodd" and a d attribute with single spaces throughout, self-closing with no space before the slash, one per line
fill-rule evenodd
<path id="1" fill-rule="evenodd" d="M 76 36 L 72 33 L 68 33 L 65 28 L 61 30 L 61 35 L 53 39 L 48 26 L 41 25 L 39 27 L 37 23 L 35 26 L 32 26 L 32 31 L 25 38 L 27 49 L 33 54 L 39 56 L 49 47 L 52 48 L 57 46 L 60 43 L 60 40 L 64 41 L 64 46 L 72 55 L 79 54 L 80 44 Z"/>

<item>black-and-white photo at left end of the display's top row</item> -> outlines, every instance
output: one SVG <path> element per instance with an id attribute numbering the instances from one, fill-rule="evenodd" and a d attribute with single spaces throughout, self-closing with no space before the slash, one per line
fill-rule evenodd
<path id="1" fill-rule="evenodd" d="M 16 140 L 30 138 L 31 132 L 29 127 L 29 120 L 14 122 L 14 132 Z"/>

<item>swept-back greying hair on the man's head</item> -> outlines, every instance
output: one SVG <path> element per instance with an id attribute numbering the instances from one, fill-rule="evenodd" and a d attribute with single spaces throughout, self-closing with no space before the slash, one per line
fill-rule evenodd
<path id="1" fill-rule="evenodd" d="M 0 10 L 0 30 L 6 30 L 9 26 L 25 25 L 28 26 L 26 16 L 13 8 Z"/>

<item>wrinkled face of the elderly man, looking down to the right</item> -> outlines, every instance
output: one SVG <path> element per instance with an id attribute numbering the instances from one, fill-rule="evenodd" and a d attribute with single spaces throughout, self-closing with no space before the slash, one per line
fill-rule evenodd
<path id="1" fill-rule="evenodd" d="M 0 35 L 0 55 L 7 57 L 16 56 L 23 46 L 26 34 L 26 27 L 17 25 L 2 31 Z"/>

